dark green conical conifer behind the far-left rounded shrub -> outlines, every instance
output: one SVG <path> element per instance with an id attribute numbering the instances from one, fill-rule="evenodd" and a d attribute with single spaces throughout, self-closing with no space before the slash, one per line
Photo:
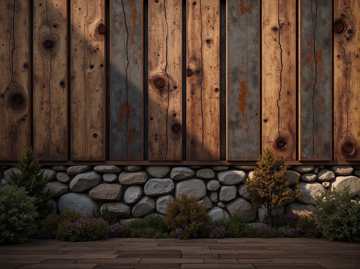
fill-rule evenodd
<path id="1" fill-rule="evenodd" d="M 9 184 L 17 187 L 24 187 L 28 196 L 35 197 L 34 205 L 38 212 L 37 220 L 45 219 L 54 209 L 49 204 L 52 197 L 50 190 L 43 192 L 46 184 L 49 182 L 48 177 L 44 177 L 44 171 L 41 170 L 39 160 L 35 160 L 31 147 L 27 147 L 25 154 L 21 155 L 18 160 L 19 165 L 15 166 L 21 173 L 15 173 L 13 170 L 9 173 Z"/>

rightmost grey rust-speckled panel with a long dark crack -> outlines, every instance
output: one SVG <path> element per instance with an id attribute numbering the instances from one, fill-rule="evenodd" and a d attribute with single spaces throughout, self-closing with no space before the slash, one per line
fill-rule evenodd
<path id="1" fill-rule="evenodd" d="M 300 160 L 332 159 L 332 3 L 300 1 Z"/>

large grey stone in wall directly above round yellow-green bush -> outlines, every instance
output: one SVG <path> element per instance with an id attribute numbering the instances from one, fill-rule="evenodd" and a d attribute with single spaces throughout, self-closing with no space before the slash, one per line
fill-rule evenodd
<path id="1" fill-rule="evenodd" d="M 201 179 L 185 179 L 176 184 L 175 197 L 180 197 L 181 193 L 186 193 L 188 196 L 202 199 L 206 196 L 205 183 Z"/>

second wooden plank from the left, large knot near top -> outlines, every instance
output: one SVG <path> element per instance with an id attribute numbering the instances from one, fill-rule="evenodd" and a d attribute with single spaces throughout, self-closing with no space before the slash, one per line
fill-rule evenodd
<path id="1" fill-rule="evenodd" d="M 66 1 L 33 2 L 33 151 L 68 159 Z"/>

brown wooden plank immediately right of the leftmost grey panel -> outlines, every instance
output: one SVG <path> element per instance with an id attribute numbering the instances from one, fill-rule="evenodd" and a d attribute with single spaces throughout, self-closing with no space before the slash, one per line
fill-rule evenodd
<path id="1" fill-rule="evenodd" d="M 182 159 L 181 0 L 149 1 L 149 160 Z"/>

